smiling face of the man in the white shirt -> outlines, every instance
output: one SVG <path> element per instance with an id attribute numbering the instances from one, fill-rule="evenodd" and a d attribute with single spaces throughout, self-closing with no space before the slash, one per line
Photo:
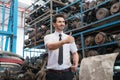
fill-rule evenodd
<path id="1" fill-rule="evenodd" d="M 62 17 L 56 19 L 56 23 L 53 24 L 56 31 L 63 31 L 65 27 L 65 20 Z"/>

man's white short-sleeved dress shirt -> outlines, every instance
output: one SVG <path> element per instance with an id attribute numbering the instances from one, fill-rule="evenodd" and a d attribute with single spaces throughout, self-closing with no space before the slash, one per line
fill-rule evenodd
<path id="1" fill-rule="evenodd" d="M 68 35 L 58 32 L 54 32 L 52 34 L 48 34 L 44 37 L 45 45 L 49 42 L 58 42 L 59 41 L 59 34 L 62 34 L 62 39 L 65 39 Z M 70 52 L 74 53 L 77 51 L 77 47 L 75 42 L 64 44 L 63 45 L 63 64 L 58 64 L 58 56 L 59 56 L 59 48 L 55 50 L 48 50 L 48 63 L 47 69 L 55 69 L 55 70 L 62 70 L 71 67 L 70 61 Z"/>

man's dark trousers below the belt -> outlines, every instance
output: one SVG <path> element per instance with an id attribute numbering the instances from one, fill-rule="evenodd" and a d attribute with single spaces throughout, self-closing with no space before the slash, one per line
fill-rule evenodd
<path id="1" fill-rule="evenodd" d="M 74 74 L 72 71 L 47 71 L 46 80 L 73 80 Z"/>

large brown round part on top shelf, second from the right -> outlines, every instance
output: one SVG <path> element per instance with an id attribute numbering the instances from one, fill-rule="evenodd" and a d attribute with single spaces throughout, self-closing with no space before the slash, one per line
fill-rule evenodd
<path id="1" fill-rule="evenodd" d="M 98 20 L 101 20 L 107 16 L 109 16 L 109 10 L 107 8 L 100 8 L 96 12 L 96 19 Z"/>

